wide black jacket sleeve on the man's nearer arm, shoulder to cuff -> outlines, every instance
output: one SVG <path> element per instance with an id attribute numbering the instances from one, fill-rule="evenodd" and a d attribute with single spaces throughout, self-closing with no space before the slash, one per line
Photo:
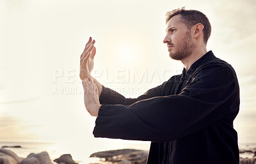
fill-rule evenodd
<path id="1" fill-rule="evenodd" d="M 220 120 L 239 106 L 236 74 L 209 64 L 195 72 L 180 94 L 140 100 L 129 106 L 102 105 L 95 137 L 166 142 Z"/>

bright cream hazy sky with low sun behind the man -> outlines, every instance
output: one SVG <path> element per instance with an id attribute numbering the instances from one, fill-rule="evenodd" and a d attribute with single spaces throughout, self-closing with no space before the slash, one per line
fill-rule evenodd
<path id="1" fill-rule="evenodd" d="M 93 137 L 95 117 L 83 104 L 79 57 L 92 36 L 97 48 L 92 75 L 126 97 L 140 96 L 183 69 L 163 43 L 166 12 L 182 6 L 209 18 L 207 50 L 230 63 L 239 80 L 241 106 L 234 121 L 239 143 L 256 143 L 253 0 L 1 0 L 0 141 L 97 149 L 137 143 Z"/>

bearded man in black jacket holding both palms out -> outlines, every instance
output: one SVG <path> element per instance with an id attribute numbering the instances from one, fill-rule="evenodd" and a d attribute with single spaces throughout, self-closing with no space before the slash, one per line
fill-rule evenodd
<path id="1" fill-rule="evenodd" d="M 239 163 L 233 128 L 239 85 L 232 66 L 206 50 L 209 20 L 182 8 L 168 12 L 166 24 L 163 42 L 184 70 L 138 98 L 124 98 L 92 78 L 95 40 L 86 44 L 80 77 L 84 105 L 97 117 L 94 136 L 152 141 L 148 164 Z"/>

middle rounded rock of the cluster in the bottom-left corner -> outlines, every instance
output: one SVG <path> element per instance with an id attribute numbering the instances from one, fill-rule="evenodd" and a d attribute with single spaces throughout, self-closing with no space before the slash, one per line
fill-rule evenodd
<path id="1" fill-rule="evenodd" d="M 37 161 L 35 160 L 35 158 Z M 32 161 L 34 161 L 35 164 L 52 164 L 49 154 L 46 151 L 38 154 L 31 153 L 28 155 L 27 158 L 25 158 L 18 164 L 34 164 L 31 163 Z"/>

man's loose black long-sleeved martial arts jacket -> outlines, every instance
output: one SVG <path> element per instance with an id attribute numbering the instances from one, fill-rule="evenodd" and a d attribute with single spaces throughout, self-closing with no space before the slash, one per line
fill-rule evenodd
<path id="1" fill-rule="evenodd" d="M 239 163 L 239 85 L 211 51 L 138 98 L 103 87 L 95 137 L 152 141 L 148 164 Z"/>

